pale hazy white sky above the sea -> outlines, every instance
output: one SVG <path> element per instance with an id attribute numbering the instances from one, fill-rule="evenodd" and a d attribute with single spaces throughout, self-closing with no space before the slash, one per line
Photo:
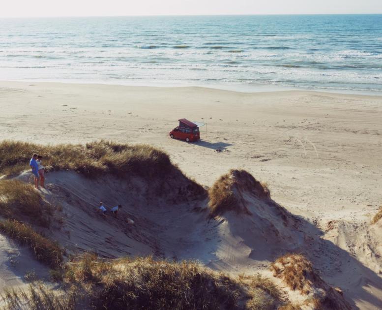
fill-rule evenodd
<path id="1" fill-rule="evenodd" d="M 3 0 L 0 17 L 382 13 L 382 0 Z"/>

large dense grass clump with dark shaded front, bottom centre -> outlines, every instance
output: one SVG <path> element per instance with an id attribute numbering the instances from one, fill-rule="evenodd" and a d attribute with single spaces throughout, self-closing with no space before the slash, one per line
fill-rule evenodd
<path id="1" fill-rule="evenodd" d="M 240 296 L 235 281 L 195 262 L 85 255 L 67 268 L 65 278 L 80 283 L 96 309 L 235 309 Z"/>

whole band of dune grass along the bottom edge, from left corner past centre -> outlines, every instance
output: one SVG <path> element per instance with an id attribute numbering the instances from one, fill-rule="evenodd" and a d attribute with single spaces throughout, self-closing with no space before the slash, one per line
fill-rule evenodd
<path id="1" fill-rule="evenodd" d="M 271 283 L 266 279 L 245 277 L 248 283 L 253 279 L 257 283 L 251 286 L 193 261 L 103 260 L 87 253 L 66 263 L 62 278 L 63 288 L 68 289 L 59 294 L 37 285 L 26 293 L 8 291 L 3 301 L 8 306 L 24 303 L 30 309 L 52 310 L 271 310 L 277 306 L 268 294 L 266 287 Z"/>

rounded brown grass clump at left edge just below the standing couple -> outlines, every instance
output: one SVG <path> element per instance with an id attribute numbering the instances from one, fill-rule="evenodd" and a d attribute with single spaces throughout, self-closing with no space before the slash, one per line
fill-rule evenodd
<path id="1" fill-rule="evenodd" d="M 18 180 L 0 181 L 0 215 L 49 227 L 54 208 L 43 201 L 29 184 Z"/>

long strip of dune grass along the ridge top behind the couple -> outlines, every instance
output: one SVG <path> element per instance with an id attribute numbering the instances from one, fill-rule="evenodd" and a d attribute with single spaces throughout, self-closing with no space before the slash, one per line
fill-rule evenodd
<path id="1" fill-rule="evenodd" d="M 150 178 L 174 169 L 169 155 L 149 145 L 103 140 L 86 145 L 38 145 L 4 140 L 0 142 L 0 174 L 11 175 L 29 168 L 33 153 L 43 156 L 48 169 L 74 170 L 88 177 L 112 173 L 120 177 L 135 174 Z"/>

